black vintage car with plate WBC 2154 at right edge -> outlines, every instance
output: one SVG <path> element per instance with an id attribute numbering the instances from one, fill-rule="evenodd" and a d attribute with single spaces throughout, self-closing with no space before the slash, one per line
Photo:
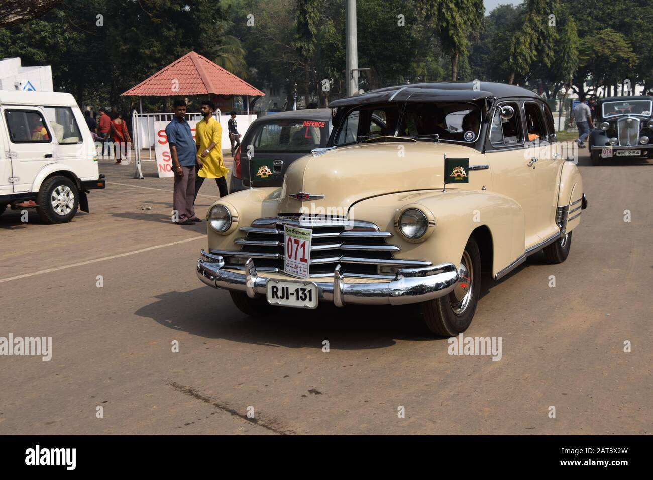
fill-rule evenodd
<path id="1" fill-rule="evenodd" d="M 653 97 L 609 97 L 596 105 L 592 163 L 613 157 L 653 158 Z"/>

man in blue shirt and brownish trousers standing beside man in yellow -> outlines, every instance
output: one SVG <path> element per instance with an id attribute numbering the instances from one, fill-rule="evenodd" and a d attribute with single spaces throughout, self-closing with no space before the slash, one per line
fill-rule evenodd
<path id="1" fill-rule="evenodd" d="M 201 221 L 195 216 L 193 199 L 195 198 L 195 165 L 197 164 L 197 148 L 191 126 L 184 119 L 186 103 L 183 100 L 174 101 L 174 118 L 165 133 L 170 144 L 172 170 L 174 170 L 174 194 L 172 204 L 178 212 L 177 225 L 195 225 Z"/>

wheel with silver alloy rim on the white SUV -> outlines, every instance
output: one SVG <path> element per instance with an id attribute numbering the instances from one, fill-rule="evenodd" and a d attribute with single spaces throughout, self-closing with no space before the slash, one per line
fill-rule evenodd
<path id="1" fill-rule="evenodd" d="M 48 178 L 37 196 L 37 212 L 44 223 L 67 223 L 77 213 L 80 192 L 72 180 L 65 176 Z"/>

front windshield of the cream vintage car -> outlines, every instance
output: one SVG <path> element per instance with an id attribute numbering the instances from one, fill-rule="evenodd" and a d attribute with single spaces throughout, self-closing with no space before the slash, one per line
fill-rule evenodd
<path id="1" fill-rule="evenodd" d="M 334 144 L 364 142 L 386 135 L 471 143 L 477 140 L 480 130 L 481 111 L 475 104 L 389 103 L 349 112 Z"/>

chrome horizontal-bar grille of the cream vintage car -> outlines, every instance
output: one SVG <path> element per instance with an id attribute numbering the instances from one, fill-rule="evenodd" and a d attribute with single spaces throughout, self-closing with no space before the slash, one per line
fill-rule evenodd
<path id="1" fill-rule="evenodd" d="M 387 242 L 390 232 L 367 221 L 334 219 L 325 221 L 319 218 L 283 216 L 261 218 L 249 227 L 241 227 L 246 234 L 237 238 L 234 244 L 240 249 L 212 250 L 222 255 L 225 268 L 244 270 L 247 258 L 254 261 L 257 271 L 283 272 L 285 255 L 283 225 L 308 228 L 313 231 L 311 240 L 311 277 L 331 276 L 338 264 L 342 273 L 349 276 L 387 276 L 394 277 L 398 268 L 429 266 L 430 261 L 395 259 L 394 252 L 400 251 L 396 245 Z M 381 271 L 383 266 L 383 271 Z"/>

